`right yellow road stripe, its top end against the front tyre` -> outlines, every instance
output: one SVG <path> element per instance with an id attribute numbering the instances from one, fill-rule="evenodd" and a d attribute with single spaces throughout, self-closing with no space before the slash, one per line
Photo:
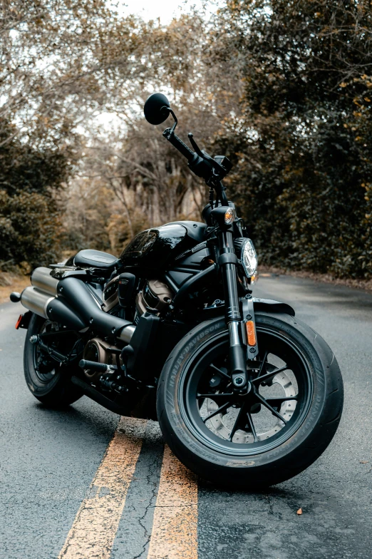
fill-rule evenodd
<path id="1" fill-rule="evenodd" d="M 165 446 L 148 559 L 197 559 L 197 478 Z"/>

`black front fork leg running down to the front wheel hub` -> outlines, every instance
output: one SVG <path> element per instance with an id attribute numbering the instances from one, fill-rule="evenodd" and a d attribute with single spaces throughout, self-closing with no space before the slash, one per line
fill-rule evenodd
<path id="1" fill-rule="evenodd" d="M 232 234 L 221 234 L 219 265 L 224 282 L 226 323 L 229 327 L 229 361 L 232 382 L 237 389 L 247 385 L 247 346 L 242 336 L 242 314 L 239 309 L 237 292 L 237 257 L 234 254 Z"/>

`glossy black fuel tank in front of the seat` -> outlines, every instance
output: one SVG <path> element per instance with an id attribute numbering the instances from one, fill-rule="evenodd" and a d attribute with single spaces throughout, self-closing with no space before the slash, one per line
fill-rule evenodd
<path id="1" fill-rule="evenodd" d="M 177 221 L 138 233 L 120 255 L 121 267 L 164 269 L 172 258 L 204 240 L 205 223 Z"/>

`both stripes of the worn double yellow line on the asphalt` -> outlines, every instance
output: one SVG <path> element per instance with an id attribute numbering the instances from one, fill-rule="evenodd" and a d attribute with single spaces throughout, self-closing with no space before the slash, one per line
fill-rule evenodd
<path id="1" fill-rule="evenodd" d="M 58 559 L 110 559 L 147 421 L 120 418 Z M 165 446 L 147 559 L 197 559 L 197 480 Z"/>

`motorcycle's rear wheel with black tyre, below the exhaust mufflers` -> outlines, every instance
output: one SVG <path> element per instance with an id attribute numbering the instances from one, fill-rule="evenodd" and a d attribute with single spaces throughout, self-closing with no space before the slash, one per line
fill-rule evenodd
<path id="1" fill-rule="evenodd" d="M 71 376 L 76 365 L 63 365 L 41 351 L 30 338 L 46 332 L 58 332 L 56 322 L 33 314 L 24 346 L 24 376 L 29 390 L 46 406 L 61 407 L 73 404 L 83 396 L 81 389 L 72 384 Z"/>

